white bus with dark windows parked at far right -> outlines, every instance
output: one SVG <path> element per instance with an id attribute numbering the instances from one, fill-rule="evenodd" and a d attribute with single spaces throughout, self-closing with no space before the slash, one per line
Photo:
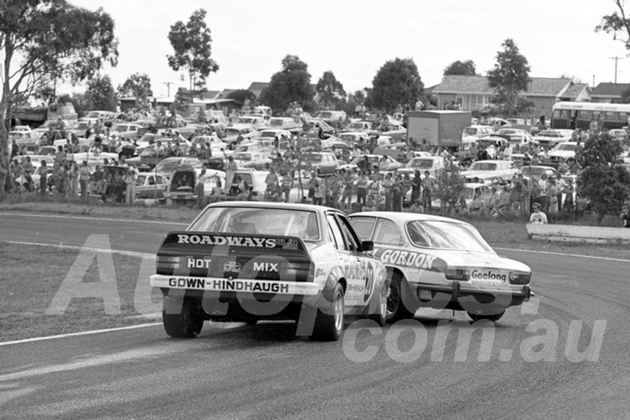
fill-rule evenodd
<path id="1" fill-rule="evenodd" d="M 629 125 L 630 104 L 598 102 L 558 102 L 551 113 L 551 128 L 588 130 L 591 122 L 601 122 L 606 130 Z"/>

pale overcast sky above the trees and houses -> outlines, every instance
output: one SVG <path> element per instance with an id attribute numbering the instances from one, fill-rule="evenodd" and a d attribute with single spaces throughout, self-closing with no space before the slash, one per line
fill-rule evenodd
<path id="1" fill-rule="evenodd" d="M 442 81 L 455 60 L 473 60 L 485 75 L 501 43 L 512 38 L 529 61 L 531 77 L 575 77 L 595 86 L 630 82 L 630 57 L 619 40 L 595 33 L 613 0 L 69 0 L 86 9 L 102 7 L 115 21 L 117 67 L 104 67 L 114 87 L 135 72 L 146 73 L 156 96 L 188 87 L 166 55 L 171 25 L 193 11 L 207 11 L 212 58 L 219 71 L 209 90 L 246 89 L 268 82 L 282 59 L 297 55 L 311 81 L 332 71 L 346 91 L 372 86 L 388 60 L 411 58 L 425 87 Z M 627 8 L 630 10 L 630 3 Z M 619 34 L 621 35 L 621 34 Z M 621 36 L 620 36 L 621 38 Z M 167 84 L 171 85 L 168 88 Z M 84 87 L 60 86 L 58 92 Z"/>

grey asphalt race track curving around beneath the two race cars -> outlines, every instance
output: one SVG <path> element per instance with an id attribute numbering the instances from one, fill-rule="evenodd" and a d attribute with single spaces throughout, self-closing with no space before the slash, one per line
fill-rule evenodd
<path id="1" fill-rule="evenodd" d="M 140 253 L 181 227 L 0 213 L 0 241 L 108 234 Z M 349 322 L 336 343 L 292 324 L 206 323 L 193 340 L 157 325 L 8 344 L 0 417 L 628 418 L 630 261 L 500 253 L 532 266 L 537 298 L 496 326 L 420 310 L 384 329 Z"/>

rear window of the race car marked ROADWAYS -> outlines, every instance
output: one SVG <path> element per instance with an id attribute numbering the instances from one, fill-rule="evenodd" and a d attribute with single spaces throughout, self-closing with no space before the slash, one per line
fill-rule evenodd
<path id="1" fill-rule="evenodd" d="M 190 225 L 188 230 L 298 236 L 304 241 L 319 241 L 317 214 L 308 210 L 209 207 Z"/>

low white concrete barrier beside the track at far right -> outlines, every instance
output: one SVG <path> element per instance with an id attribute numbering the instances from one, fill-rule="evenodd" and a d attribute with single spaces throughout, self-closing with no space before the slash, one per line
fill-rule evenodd
<path id="1" fill-rule="evenodd" d="M 630 229 L 580 225 L 527 224 L 532 239 L 544 241 L 630 243 Z"/>

